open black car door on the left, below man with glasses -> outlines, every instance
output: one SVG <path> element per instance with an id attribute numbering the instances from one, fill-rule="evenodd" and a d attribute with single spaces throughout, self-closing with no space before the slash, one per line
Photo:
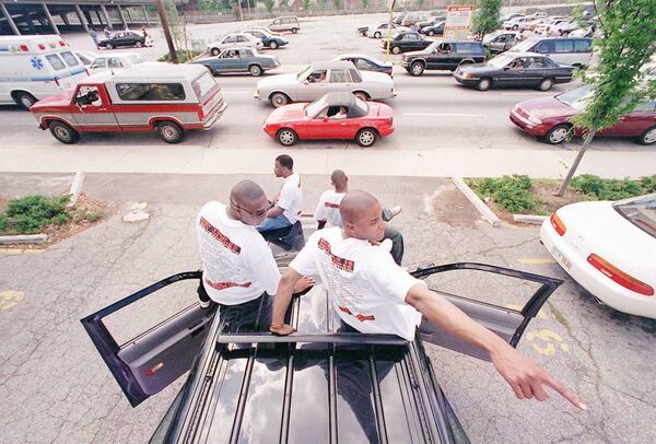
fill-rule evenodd
<path id="1" fill-rule="evenodd" d="M 216 305 L 203 309 L 196 299 L 194 304 L 122 344 L 117 343 L 103 319 L 164 287 L 189 279 L 200 281 L 201 272 L 174 274 L 80 320 L 132 407 L 191 367 Z"/>

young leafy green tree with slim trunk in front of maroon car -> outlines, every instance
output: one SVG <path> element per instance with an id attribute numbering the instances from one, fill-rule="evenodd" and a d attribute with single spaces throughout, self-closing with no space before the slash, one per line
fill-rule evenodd
<path id="1" fill-rule="evenodd" d="M 631 113 L 641 101 L 656 96 L 656 63 L 649 60 L 656 51 L 656 1 L 606 0 L 595 3 L 600 37 L 594 39 L 597 62 L 582 73 L 591 85 L 584 110 L 571 121 L 586 135 L 560 196 L 576 172 L 596 132 L 616 124 Z"/>

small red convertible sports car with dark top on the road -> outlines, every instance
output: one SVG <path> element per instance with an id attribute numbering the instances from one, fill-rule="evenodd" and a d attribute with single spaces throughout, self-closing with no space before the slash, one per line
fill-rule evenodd
<path id="1" fill-rule="evenodd" d="M 265 132 L 281 144 L 297 140 L 354 139 L 371 147 L 394 132 L 394 112 L 385 104 L 363 102 L 349 93 L 328 93 L 313 103 L 274 109 L 265 120 Z"/>

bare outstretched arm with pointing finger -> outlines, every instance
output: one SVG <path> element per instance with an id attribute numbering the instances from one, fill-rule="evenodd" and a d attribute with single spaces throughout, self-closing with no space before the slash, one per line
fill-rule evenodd
<path id="1" fill-rule="evenodd" d="M 538 364 L 524 357 L 506 341 L 467 316 L 441 294 L 426 289 L 423 283 L 410 288 L 406 302 L 421 312 L 430 322 L 465 341 L 487 350 L 496 371 L 503 376 L 519 399 L 549 398 L 544 386 L 550 386 L 579 409 L 586 406 L 547 374 Z"/>

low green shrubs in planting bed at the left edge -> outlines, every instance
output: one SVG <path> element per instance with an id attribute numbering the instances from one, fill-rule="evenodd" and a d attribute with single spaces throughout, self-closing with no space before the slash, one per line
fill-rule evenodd
<path id="1" fill-rule="evenodd" d="M 65 225 L 69 222 L 95 222 L 101 214 L 86 208 L 67 208 L 70 196 L 33 195 L 11 199 L 4 212 L 0 213 L 0 235 L 42 233 L 49 225 Z"/>

